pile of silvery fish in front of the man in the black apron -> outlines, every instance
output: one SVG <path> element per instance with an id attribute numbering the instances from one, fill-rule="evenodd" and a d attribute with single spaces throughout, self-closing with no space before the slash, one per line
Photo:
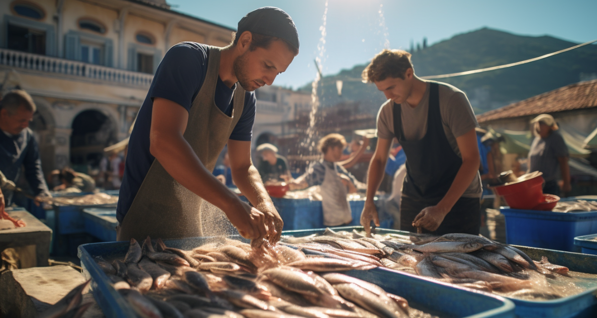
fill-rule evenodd
<path id="1" fill-rule="evenodd" d="M 568 268 L 550 264 L 545 257 L 533 261 L 513 246 L 470 234 L 365 237 L 357 231 L 326 229 L 320 236 L 282 237 L 282 242 L 307 254 L 364 261 L 485 292 L 515 292 L 511 297 L 559 298 L 538 291 L 537 276 L 568 273 Z"/>

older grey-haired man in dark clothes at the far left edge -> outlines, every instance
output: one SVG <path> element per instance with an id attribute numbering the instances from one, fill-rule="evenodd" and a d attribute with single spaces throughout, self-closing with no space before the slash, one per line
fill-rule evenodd
<path id="1" fill-rule="evenodd" d="M 41 197 L 50 196 L 50 192 L 41 169 L 39 146 L 29 129 L 35 111 L 31 96 L 22 89 L 9 91 L 0 100 L 0 171 L 7 180 L 16 183 L 21 175 L 21 167 L 24 167 L 24 177 L 33 195 L 41 200 Z M 4 196 L 7 205 L 15 202 L 26 206 L 26 200 L 15 197 L 10 190 L 5 190 Z M 35 203 L 39 205 L 39 200 Z M 4 209 L 4 203 L 1 208 Z"/>

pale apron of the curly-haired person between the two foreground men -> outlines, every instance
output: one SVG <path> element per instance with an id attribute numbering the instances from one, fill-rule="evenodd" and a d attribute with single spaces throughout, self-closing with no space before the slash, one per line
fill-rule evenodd
<path id="1" fill-rule="evenodd" d="M 336 171 L 327 163 L 325 166 L 324 182 L 321 184 L 321 205 L 324 211 L 324 226 L 341 226 L 352 222 L 352 213 L 348 203 L 346 186 L 342 183 Z"/>

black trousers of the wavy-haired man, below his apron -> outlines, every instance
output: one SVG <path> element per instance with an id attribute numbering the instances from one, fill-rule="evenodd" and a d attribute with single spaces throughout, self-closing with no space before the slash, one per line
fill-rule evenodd
<path id="1" fill-rule="evenodd" d="M 413 227 L 414 218 L 427 206 L 438 204 L 440 199 L 420 200 L 402 196 L 400 205 L 400 229 L 403 231 L 417 232 Z M 473 197 L 461 197 L 450 210 L 437 230 L 431 232 L 423 229 L 423 233 L 444 235 L 448 233 L 479 234 L 481 227 L 481 200 Z"/>

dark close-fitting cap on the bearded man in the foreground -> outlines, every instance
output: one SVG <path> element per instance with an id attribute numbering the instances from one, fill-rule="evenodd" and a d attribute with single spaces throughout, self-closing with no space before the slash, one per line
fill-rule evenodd
<path id="1" fill-rule="evenodd" d="M 284 10 L 275 7 L 263 7 L 253 10 L 238 21 L 238 36 L 250 31 L 261 35 L 284 39 L 298 50 L 298 32 L 293 18 Z"/>

